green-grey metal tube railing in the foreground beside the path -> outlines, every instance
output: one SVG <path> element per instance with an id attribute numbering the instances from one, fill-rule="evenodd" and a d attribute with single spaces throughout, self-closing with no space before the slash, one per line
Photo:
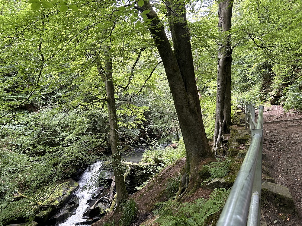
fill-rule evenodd
<path id="1" fill-rule="evenodd" d="M 255 108 L 259 109 L 257 123 Z M 245 110 L 252 141 L 216 226 L 260 225 L 263 106 L 248 103 Z"/>

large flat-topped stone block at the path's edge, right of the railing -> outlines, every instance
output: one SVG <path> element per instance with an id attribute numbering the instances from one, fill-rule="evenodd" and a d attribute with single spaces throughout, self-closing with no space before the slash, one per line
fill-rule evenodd
<path id="1" fill-rule="evenodd" d="M 288 187 L 271 182 L 264 182 L 261 188 L 261 196 L 278 206 L 284 212 L 294 212 L 294 202 Z"/>

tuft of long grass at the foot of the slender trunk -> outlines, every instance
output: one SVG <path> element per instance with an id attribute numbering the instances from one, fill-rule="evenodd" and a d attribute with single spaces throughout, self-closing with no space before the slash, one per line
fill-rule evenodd
<path id="1" fill-rule="evenodd" d="M 120 226 L 130 226 L 134 224 L 135 219 L 137 218 L 137 204 L 134 199 L 124 200 L 120 204 L 120 210 L 122 212 L 122 216 L 119 221 Z"/>

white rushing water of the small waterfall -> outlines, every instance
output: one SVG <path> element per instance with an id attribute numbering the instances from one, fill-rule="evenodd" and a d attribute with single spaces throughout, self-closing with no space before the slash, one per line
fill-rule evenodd
<path id="1" fill-rule="evenodd" d="M 92 198 L 92 195 L 98 189 L 98 171 L 102 165 L 103 162 L 96 162 L 92 164 L 89 168 L 87 168 L 82 174 L 79 180 L 79 193 L 76 194 L 80 198 L 79 207 L 76 209 L 76 214 L 70 216 L 67 221 L 62 224 L 59 224 L 59 226 L 73 226 L 76 225 L 76 223 L 83 222 L 86 220 L 83 218 L 83 214 L 85 213 L 85 210 L 88 207 L 87 201 Z"/>

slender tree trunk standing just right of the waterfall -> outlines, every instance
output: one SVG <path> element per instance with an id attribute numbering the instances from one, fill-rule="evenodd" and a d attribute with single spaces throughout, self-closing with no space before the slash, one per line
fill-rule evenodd
<path id="1" fill-rule="evenodd" d="M 112 80 L 112 58 L 108 58 L 105 61 L 106 70 L 102 70 L 102 67 L 97 67 L 98 72 L 105 82 L 106 93 L 107 93 L 107 108 L 109 116 L 109 127 L 110 127 L 110 143 L 112 152 L 112 165 L 115 179 L 115 188 L 117 194 L 117 203 L 124 199 L 128 199 L 128 192 L 126 190 L 124 172 L 122 168 L 122 163 L 120 160 L 120 153 L 117 151 L 118 144 L 118 126 L 117 126 L 117 116 L 115 108 L 115 97 L 114 97 L 114 85 Z"/>

